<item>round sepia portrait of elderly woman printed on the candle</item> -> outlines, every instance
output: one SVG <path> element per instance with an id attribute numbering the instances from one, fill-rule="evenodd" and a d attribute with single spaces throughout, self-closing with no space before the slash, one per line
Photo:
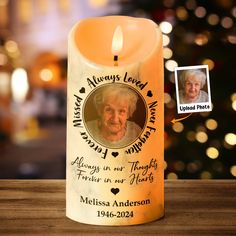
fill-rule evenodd
<path id="1" fill-rule="evenodd" d="M 99 86 L 85 100 L 83 117 L 91 137 L 107 148 L 133 143 L 146 125 L 147 107 L 131 86 L 111 83 Z"/>

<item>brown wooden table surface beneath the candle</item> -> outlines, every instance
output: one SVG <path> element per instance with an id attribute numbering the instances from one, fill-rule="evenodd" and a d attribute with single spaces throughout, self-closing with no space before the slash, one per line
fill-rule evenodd
<path id="1" fill-rule="evenodd" d="M 65 180 L 0 180 L 0 235 L 236 235 L 236 181 L 167 180 L 163 219 L 111 227 L 65 216 Z"/>

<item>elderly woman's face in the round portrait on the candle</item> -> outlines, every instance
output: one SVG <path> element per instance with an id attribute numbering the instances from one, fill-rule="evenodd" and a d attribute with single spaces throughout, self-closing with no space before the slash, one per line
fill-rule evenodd
<path id="1" fill-rule="evenodd" d="M 102 129 L 107 133 L 119 135 L 125 132 L 126 120 L 129 118 L 129 102 L 127 99 L 107 97 L 102 109 Z"/>

